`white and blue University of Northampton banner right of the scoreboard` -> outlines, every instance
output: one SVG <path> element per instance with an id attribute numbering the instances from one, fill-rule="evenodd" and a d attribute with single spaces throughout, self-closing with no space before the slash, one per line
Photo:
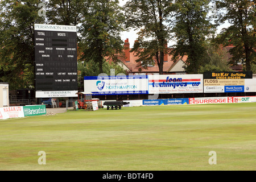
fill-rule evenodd
<path id="1" fill-rule="evenodd" d="M 148 94 L 147 75 L 85 76 L 84 92 L 93 95 Z"/>

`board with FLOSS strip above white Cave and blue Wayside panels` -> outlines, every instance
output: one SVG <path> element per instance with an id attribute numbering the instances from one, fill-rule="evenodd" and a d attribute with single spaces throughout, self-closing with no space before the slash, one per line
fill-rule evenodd
<path id="1" fill-rule="evenodd" d="M 204 79 L 204 93 L 244 92 L 245 79 Z"/>

